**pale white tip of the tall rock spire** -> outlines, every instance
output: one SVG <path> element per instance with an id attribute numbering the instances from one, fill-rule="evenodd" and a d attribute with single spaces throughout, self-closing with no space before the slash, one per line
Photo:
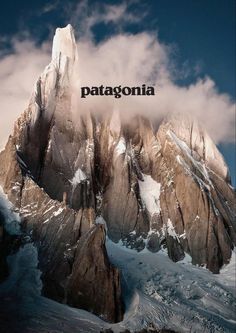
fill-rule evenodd
<path id="1" fill-rule="evenodd" d="M 77 56 L 74 29 L 70 24 L 64 28 L 57 28 L 53 38 L 52 60 L 57 60 L 60 55 L 73 61 Z"/>

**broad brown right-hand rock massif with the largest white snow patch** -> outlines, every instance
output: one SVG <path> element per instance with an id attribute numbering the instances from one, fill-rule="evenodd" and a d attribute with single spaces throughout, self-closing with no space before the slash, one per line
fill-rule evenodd
<path id="1" fill-rule="evenodd" d="M 235 244 L 227 166 L 193 120 L 179 115 L 154 128 L 137 116 L 132 127 L 121 124 L 110 148 L 102 205 L 108 234 L 137 249 L 163 245 L 174 261 L 189 253 L 217 273 Z"/>

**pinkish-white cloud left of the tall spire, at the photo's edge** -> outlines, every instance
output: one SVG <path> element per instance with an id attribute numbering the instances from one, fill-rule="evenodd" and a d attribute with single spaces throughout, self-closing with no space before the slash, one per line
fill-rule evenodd
<path id="1" fill-rule="evenodd" d="M 0 148 L 3 148 L 17 117 L 26 109 L 34 83 L 48 64 L 48 44 L 12 41 L 10 55 L 0 57 Z"/>

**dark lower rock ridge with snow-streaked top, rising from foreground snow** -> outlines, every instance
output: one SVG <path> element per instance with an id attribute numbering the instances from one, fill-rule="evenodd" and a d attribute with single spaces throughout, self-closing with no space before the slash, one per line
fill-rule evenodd
<path id="1" fill-rule="evenodd" d="M 104 226 L 93 224 L 93 210 L 52 200 L 26 177 L 20 215 L 38 248 L 43 294 L 110 322 L 122 320 L 119 271 L 109 263 Z"/>

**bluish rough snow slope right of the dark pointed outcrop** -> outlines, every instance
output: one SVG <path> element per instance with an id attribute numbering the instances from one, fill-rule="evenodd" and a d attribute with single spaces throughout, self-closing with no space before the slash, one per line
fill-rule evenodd
<path id="1" fill-rule="evenodd" d="M 110 240 L 107 250 L 127 289 L 121 326 L 134 330 L 152 322 L 176 332 L 235 331 L 235 254 L 222 274 L 214 275 L 185 261 L 173 263 L 163 252 L 138 253 Z"/>

